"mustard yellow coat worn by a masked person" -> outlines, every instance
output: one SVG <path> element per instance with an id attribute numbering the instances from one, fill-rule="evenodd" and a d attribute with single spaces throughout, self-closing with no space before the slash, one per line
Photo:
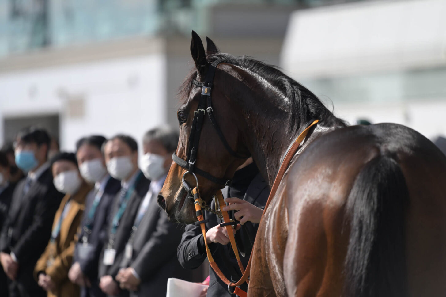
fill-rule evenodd
<path id="1" fill-rule="evenodd" d="M 51 276 L 51 280 L 54 282 L 55 289 L 48 291 L 48 297 L 79 297 L 79 287 L 68 279 L 68 270 L 70 270 L 74 247 L 78 240 L 77 233 L 85 208 L 85 198 L 91 188 L 92 186 L 83 183 L 78 193 L 71 198 L 70 209 L 62 221 L 59 236 L 53 243 L 50 240 L 34 268 L 36 280 L 39 272 L 45 272 Z M 69 194 L 66 194 L 62 199 L 54 217 L 53 229 L 56 227 L 63 208 L 69 199 Z"/>

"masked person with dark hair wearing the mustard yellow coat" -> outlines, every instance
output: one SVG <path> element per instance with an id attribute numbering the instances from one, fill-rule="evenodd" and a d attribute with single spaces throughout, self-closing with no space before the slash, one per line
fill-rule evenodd
<path id="1" fill-rule="evenodd" d="M 58 153 L 51 159 L 54 186 L 64 193 L 56 212 L 50 242 L 37 260 L 34 277 L 48 297 L 78 297 L 79 287 L 68 279 L 76 233 L 92 186 L 81 177 L 74 153 Z"/>

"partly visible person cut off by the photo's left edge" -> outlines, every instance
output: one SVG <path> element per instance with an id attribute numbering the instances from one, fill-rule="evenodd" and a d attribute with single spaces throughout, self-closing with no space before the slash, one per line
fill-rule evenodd
<path id="1" fill-rule="evenodd" d="M 16 186 L 9 181 L 10 165 L 8 157 L 4 152 L 0 152 L 0 230 L 8 215 L 9 205 L 11 204 L 12 193 Z M 8 297 L 8 280 L 3 269 L 0 269 L 0 296 Z"/>

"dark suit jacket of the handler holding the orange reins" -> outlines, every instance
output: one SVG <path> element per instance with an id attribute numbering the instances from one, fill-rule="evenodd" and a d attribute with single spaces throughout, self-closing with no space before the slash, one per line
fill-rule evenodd
<path id="1" fill-rule="evenodd" d="M 251 181 L 244 195 L 244 200 L 254 204 L 257 207 L 264 208 L 269 195 L 268 183 L 264 178 L 258 173 L 256 177 Z M 227 197 L 227 191 L 223 190 L 223 196 Z M 214 208 L 214 202 L 211 203 L 211 207 Z M 217 224 L 223 223 L 222 220 L 218 219 L 215 214 L 211 214 L 204 211 L 205 219 L 209 222 L 206 223 L 206 230 L 216 226 Z M 231 215 L 231 214 L 230 214 Z M 257 232 L 258 224 L 253 224 L 247 222 L 244 226 L 237 231 L 241 236 L 241 240 L 244 241 L 245 246 L 247 246 L 248 238 L 255 237 Z M 240 239 L 237 244 L 239 245 Z M 235 255 L 231 250 L 231 245 L 221 245 L 218 243 L 209 244 L 212 256 L 214 257 L 215 263 L 218 264 L 219 268 L 227 278 L 230 279 L 233 276 L 234 280 L 239 280 L 242 276 L 235 260 Z M 200 226 L 194 224 L 187 225 L 185 232 L 183 233 L 182 240 L 177 250 L 178 260 L 181 265 L 187 269 L 195 269 L 200 266 L 206 259 L 206 249 L 204 244 L 204 238 L 201 232 Z M 248 264 L 249 256 L 251 255 L 251 250 L 246 251 L 245 256 L 240 255 L 244 267 Z M 214 296 L 233 296 L 227 291 L 227 285 L 220 280 L 220 278 L 215 274 L 212 268 L 209 269 L 209 289 L 207 291 L 208 297 Z M 248 289 L 246 286 L 242 286 L 241 289 L 245 291 Z"/>

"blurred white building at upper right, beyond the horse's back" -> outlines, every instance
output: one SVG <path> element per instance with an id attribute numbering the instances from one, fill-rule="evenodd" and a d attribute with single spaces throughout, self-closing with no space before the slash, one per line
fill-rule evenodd
<path id="1" fill-rule="evenodd" d="M 298 10 L 281 66 L 352 124 L 366 118 L 446 135 L 446 0 Z"/>

